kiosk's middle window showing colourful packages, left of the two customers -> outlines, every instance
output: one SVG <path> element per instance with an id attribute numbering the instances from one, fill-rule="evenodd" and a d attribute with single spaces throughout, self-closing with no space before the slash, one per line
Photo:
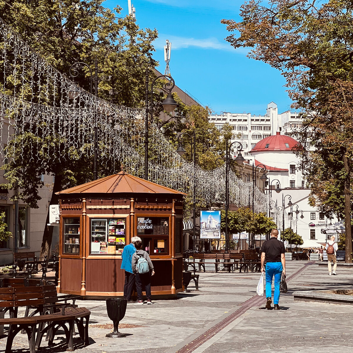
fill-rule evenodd
<path id="1" fill-rule="evenodd" d="M 125 218 L 91 219 L 91 254 L 121 255 L 126 243 Z"/>

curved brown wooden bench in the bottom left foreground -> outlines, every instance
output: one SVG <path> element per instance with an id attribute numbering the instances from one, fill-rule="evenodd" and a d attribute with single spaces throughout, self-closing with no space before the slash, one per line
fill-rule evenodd
<path id="1" fill-rule="evenodd" d="M 74 331 L 74 323 L 76 322 L 79 335 L 81 339 L 88 343 L 88 322 L 90 311 L 86 308 L 67 307 L 69 304 L 47 304 L 44 298 L 44 293 L 48 288 L 47 286 L 38 287 L 10 287 L 0 288 L 0 308 L 6 309 L 10 312 L 10 318 L 0 318 L 0 325 L 9 324 L 9 333 L 6 343 L 5 353 L 11 352 L 12 342 L 14 337 L 21 331 L 26 331 L 30 346 L 30 353 L 35 352 L 35 348 L 39 348 L 44 333 L 47 333 L 49 345 L 53 343 L 56 331 L 61 327 L 65 331 L 67 350 L 73 351 L 72 335 Z M 50 286 L 55 288 L 55 286 Z M 50 288 L 51 289 L 51 288 Z M 49 291 L 52 292 L 52 291 Z M 49 296 L 48 296 L 49 297 Z M 39 316 L 28 316 L 18 318 L 18 307 L 38 307 Z M 61 307 L 60 312 L 55 312 Z M 51 312 L 48 312 L 51 308 Z M 86 319 L 85 328 L 83 327 L 83 320 Z M 45 324 L 48 324 L 47 326 Z M 36 325 L 38 327 L 37 339 L 35 341 Z M 66 327 L 68 324 L 68 328 Z"/>

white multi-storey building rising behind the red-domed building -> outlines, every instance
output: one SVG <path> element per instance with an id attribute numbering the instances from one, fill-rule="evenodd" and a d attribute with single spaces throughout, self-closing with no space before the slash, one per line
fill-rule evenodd
<path id="1" fill-rule="evenodd" d="M 265 115 L 225 112 L 220 115 L 210 115 L 209 121 L 214 122 L 218 129 L 226 123 L 231 125 L 236 136 L 231 142 L 241 142 L 244 156 L 249 156 L 250 150 L 263 138 L 275 135 L 277 131 L 291 135 L 293 129 L 300 128 L 303 122 L 297 112 L 287 110 L 279 114 L 277 104 L 274 102 L 267 104 Z M 306 142 L 306 146 L 310 146 L 310 142 Z"/>

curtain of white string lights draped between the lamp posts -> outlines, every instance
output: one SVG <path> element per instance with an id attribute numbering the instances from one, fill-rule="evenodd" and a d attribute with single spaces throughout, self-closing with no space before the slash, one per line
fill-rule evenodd
<path id="1" fill-rule="evenodd" d="M 104 101 L 80 88 L 34 52 L 0 18 L 0 137 L 7 145 L 17 138 L 21 158 L 33 158 L 26 151 L 36 151 L 36 158 L 58 159 L 94 155 L 94 128 L 97 127 L 98 154 L 110 161 L 112 172 L 124 171 L 143 178 L 145 110 L 128 108 Z M 37 137 L 47 140 L 39 144 Z M 38 141 L 38 139 L 37 139 Z M 60 142 L 60 143 L 54 143 Z M 181 157 L 160 129 L 149 126 L 149 180 L 175 190 L 193 189 L 193 163 Z M 0 145 L 0 154 L 4 150 Z M 12 154 L 12 155 L 11 155 Z M 14 148 L 7 157 L 14 155 Z M 197 200 L 202 204 L 225 200 L 225 166 L 203 170 L 196 166 Z M 244 182 L 229 171 L 229 200 L 247 206 L 253 183 Z M 267 196 L 255 187 L 255 212 L 264 212 Z"/>

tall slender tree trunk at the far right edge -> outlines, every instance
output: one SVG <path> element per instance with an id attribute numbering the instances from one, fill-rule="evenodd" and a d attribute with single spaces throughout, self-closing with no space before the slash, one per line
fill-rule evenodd
<path id="1" fill-rule="evenodd" d="M 352 226 L 351 226 L 351 165 L 343 153 L 343 164 L 345 167 L 345 228 L 346 228 L 346 262 L 352 263 Z"/>

